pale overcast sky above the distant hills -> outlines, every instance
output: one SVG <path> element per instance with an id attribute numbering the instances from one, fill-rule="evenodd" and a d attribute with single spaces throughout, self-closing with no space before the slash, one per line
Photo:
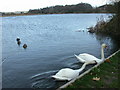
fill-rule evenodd
<path id="1" fill-rule="evenodd" d="M 0 12 L 27 11 L 55 5 L 89 3 L 92 6 L 106 4 L 107 0 L 1 0 Z"/>

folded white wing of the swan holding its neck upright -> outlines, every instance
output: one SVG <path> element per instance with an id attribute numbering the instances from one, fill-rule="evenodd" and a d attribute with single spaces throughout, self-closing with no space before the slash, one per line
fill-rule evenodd
<path id="1" fill-rule="evenodd" d="M 95 56 L 87 54 L 87 53 L 79 54 L 78 57 L 84 59 L 87 62 L 98 60 L 98 58 L 96 58 Z"/>

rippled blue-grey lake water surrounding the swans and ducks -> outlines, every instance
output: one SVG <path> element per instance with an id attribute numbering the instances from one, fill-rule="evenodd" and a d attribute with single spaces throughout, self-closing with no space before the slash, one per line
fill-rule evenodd
<path id="1" fill-rule="evenodd" d="M 109 46 L 105 57 L 115 52 L 118 46 L 112 38 L 87 32 L 101 15 L 107 19 L 110 14 L 3 17 L 3 88 L 57 88 L 66 82 L 55 81 L 51 75 L 62 68 L 81 67 L 74 54 L 86 52 L 100 58 L 102 43 Z M 22 47 L 25 43 L 27 49 Z"/>

